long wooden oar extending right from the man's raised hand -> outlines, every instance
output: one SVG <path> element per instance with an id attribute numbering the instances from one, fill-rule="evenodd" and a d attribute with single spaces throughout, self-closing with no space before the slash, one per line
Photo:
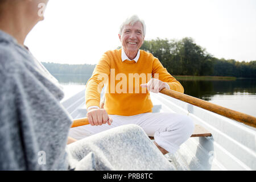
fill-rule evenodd
<path id="1" fill-rule="evenodd" d="M 223 116 L 228 117 L 230 119 L 234 119 L 238 122 L 245 123 L 245 125 L 256 127 L 256 118 L 251 116 L 251 115 L 240 113 L 238 111 L 228 109 L 226 107 L 222 107 L 222 106 L 219 106 L 219 105 L 216 105 L 216 104 L 212 104 L 210 102 L 201 100 L 201 99 L 196 98 L 196 97 L 188 96 L 186 94 L 176 92 L 174 90 L 169 90 L 169 89 L 164 88 L 160 91 L 160 93 L 165 94 L 165 95 L 170 96 L 170 97 L 174 97 L 178 100 L 187 102 L 187 103 L 195 105 L 197 107 L 201 107 L 203 109 L 212 111 L 213 113 L 223 115 Z"/>

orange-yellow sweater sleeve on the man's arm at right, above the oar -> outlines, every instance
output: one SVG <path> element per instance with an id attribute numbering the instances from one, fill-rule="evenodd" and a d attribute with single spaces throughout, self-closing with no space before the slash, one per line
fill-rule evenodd
<path id="1" fill-rule="evenodd" d="M 166 82 L 170 86 L 171 90 L 184 93 L 184 88 L 180 82 L 171 76 L 171 74 L 167 72 L 167 69 L 163 67 L 160 61 L 154 57 L 152 77 L 157 78 L 157 75 L 155 75 L 156 73 L 158 73 L 158 79 Z"/>

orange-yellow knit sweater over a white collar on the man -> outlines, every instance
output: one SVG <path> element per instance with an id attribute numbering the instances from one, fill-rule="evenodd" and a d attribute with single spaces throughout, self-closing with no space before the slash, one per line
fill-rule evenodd
<path id="1" fill-rule="evenodd" d="M 122 61 L 122 49 L 107 51 L 101 57 L 86 84 L 86 107 L 100 107 L 100 92 L 106 85 L 105 105 L 108 114 L 135 115 L 152 111 L 150 93 L 141 84 L 151 76 L 167 82 L 171 90 L 184 92 L 183 86 L 167 72 L 151 53 L 140 50 L 135 61 Z M 105 80 L 105 81 L 104 81 Z"/>

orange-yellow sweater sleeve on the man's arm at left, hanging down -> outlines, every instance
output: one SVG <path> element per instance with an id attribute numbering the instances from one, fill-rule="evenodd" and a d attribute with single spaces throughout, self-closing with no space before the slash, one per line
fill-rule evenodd
<path id="1" fill-rule="evenodd" d="M 100 107 L 101 90 L 108 76 L 110 75 L 110 61 L 106 53 L 101 57 L 100 61 L 94 68 L 92 77 L 86 83 L 85 102 L 86 107 L 98 106 Z"/>

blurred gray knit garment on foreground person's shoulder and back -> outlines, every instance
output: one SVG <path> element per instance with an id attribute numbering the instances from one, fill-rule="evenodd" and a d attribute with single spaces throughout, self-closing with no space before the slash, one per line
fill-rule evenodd
<path id="1" fill-rule="evenodd" d="M 31 53 L 0 31 L 0 170 L 67 169 L 64 94 Z"/>

